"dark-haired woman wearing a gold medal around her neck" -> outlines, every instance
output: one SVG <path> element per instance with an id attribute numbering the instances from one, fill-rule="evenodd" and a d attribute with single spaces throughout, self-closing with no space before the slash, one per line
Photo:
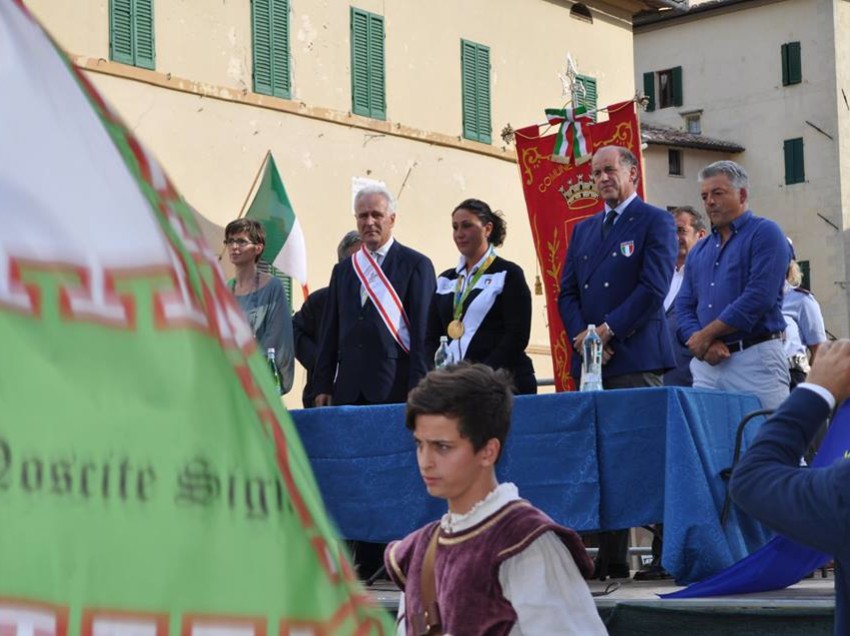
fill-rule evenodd
<path id="1" fill-rule="evenodd" d="M 449 338 L 451 361 L 481 362 L 507 369 L 520 394 L 537 393 L 531 358 L 531 291 L 519 265 L 496 255 L 505 240 L 505 219 L 484 201 L 467 199 L 452 212 L 457 267 L 437 278 L 426 342 L 434 354 Z"/>

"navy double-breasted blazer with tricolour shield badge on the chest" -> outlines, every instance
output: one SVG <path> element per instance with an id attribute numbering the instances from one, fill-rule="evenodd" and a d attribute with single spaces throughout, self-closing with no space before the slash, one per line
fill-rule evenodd
<path id="1" fill-rule="evenodd" d="M 664 297 L 676 263 L 676 225 L 666 210 L 635 198 L 608 236 L 604 212 L 579 223 L 567 248 L 558 309 L 570 341 L 593 323 L 614 330 L 603 378 L 674 365 Z M 581 358 L 573 356 L 573 377 Z"/>

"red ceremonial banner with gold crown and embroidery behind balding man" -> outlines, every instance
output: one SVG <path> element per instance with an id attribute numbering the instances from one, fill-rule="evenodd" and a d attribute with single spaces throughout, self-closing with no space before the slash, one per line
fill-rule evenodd
<path id="1" fill-rule="evenodd" d="M 583 124 L 588 148 L 592 152 L 602 146 L 625 146 L 640 161 L 643 174 L 635 102 L 620 102 L 599 110 L 608 112 L 607 121 Z M 539 129 L 534 125 L 516 131 L 517 164 L 534 248 L 543 272 L 555 387 L 558 391 L 573 391 L 576 384 L 570 375 L 572 346 L 558 313 L 561 271 L 573 228 L 582 219 L 600 212 L 602 201 L 590 178 L 590 162 L 580 166 L 555 163 L 550 157 L 556 135 L 553 132 L 541 137 Z M 638 181 L 638 195 L 643 198 L 642 180 Z"/>

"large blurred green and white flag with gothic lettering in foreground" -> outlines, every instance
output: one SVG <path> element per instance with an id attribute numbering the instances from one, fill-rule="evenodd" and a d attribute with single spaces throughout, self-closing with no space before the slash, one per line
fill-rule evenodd
<path id="1" fill-rule="evenodd" d="M 389 634 L 216 254 L 0 1 L 0 634 Z"/>

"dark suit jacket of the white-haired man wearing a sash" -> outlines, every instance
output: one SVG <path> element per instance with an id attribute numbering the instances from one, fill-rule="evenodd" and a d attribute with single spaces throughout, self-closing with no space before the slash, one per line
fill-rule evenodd
<path id="1" fill-rule="evenodd" d="M 436 287 L 434 266 L 395 241 L 381 265 L 410 321 L 410 354 L 390 335 L 371 300 L 360 301 L 360 280 L 348 258 L 334 266 L 322 319 L 313 385 L 334 404 L 404 402 L 428 372 L 425 326 Z"/>

